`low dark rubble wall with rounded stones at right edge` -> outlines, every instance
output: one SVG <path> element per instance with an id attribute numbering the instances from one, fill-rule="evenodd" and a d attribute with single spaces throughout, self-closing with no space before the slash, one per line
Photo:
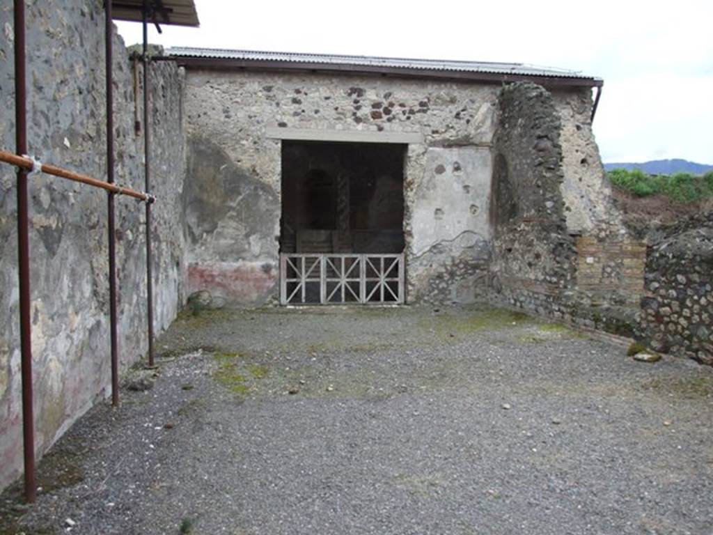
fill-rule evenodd
<path id="1" fill-rule="evenodd" d="M 713 365 L 713 212 L 652 240 L 639 327 L 653 349 Z"/>

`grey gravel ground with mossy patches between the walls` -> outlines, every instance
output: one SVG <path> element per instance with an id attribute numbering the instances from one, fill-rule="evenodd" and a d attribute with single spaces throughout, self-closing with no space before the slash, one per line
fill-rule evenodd
<path id="1" fill-rule="evenodd" d="M 0 534 L 713 534 L 694 362 L 486 307 L 201 312 L 158 347 Z"/>

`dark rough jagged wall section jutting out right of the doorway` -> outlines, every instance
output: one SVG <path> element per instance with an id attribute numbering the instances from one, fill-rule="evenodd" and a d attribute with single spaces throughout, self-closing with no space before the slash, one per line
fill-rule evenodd
<path id="1" fill-rule="evenodd" d="M 543 315 L 560 311 L 575 285 L 560 144 L 552 95 L 531 83 L 506 86 L 498 100 L 493 151 L 491 288 L 498 302 Z"/>

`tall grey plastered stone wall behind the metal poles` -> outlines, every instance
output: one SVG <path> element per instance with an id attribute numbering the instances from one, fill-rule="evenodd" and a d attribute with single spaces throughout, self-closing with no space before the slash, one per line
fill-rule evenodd
<path id="1" fill-rule="evenodd" d="M 29 151 L 46 163 L 106 177 L 103 2 L 28 3 Z M 13 9 L 0 7 L 0 146 L 14 151 Z M 116 180 L 143 190 L 133 76 L 114 36 Z M 157 332 L 183 300 L 183 73 L 153 66 L 154 273 Z M 139 93 L 140 96 L 140 93 Z M 140 100 L 140 98 L 139 98 Z M 141 110 L 139 108 L 139 113 Z M 141 116 L 141 115 L 140 115 Z M 120 367 L 145 354 L 143 205 L 116 199 Z M 36 449 L 108 394 L 106 193 L 30 178 L 31 317 Z M 22 468 L 15 169 L 0 165 L 0 488 Z"/>

